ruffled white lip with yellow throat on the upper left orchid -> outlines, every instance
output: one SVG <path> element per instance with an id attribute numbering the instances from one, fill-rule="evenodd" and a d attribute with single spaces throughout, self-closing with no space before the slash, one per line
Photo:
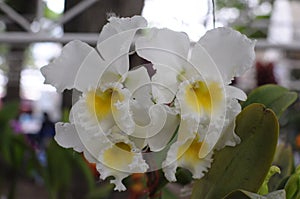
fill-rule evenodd
<path id="1" fill-rule="evenodd" d="M 135 123 L 130 110 L 130 92 L 122 87 L 119 83 L 113 83 L 106 84 L 103 90 L 91 89 L 84 93 L 83 99 L 73 105 L 72 109 L 78 104 L 76 112 L 91 118 L 87 125 L 97 123 L 104 133 L 117 125 L 121 131 L 131 134 Z"/>

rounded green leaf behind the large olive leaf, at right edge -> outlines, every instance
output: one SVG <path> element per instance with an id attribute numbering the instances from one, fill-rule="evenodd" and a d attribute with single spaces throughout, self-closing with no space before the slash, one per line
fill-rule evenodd
<path id="1" fill-rule="evenodd" d="M 291 92 L 288 89 L 268 84 L 257 89 L 254 89 L 249 95 L 248 99 L 242 103 L 242 107 L 245 108 L 249 104 L 261 103 L 267 108 L 270 108 L 279 118 L 280 115 L 297 99 L 298 95 L 295 92 Z"/>

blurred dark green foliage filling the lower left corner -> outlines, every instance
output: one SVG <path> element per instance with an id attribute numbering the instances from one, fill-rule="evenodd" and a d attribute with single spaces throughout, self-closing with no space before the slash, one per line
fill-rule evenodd
<path id="1" fill-rule="evenodd" d="M 18 103 L 6 103 L 0 111 L 0 190 L 8 186 L 7 198 L 14 199 L 18 180 L 41 177 L 49 198 L 107 198 L 111 186 L 97 186 L 94 173 L 81 154 L 62 149 L 51 141 L 45 150 L 46 164 L 10 122 L 17 118 Z M 9 182 L 9 183 L 7 183 Z"/>

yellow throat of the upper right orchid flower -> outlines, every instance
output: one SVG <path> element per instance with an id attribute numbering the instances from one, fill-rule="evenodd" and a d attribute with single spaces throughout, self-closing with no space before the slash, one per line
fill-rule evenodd
<path id="1" fill-rule="evenodd" d="M 223 98 L 223 91 L 218 83 L 198 81 L 186 87 L 185 100 L 197 112 L 210 113 Z"/>

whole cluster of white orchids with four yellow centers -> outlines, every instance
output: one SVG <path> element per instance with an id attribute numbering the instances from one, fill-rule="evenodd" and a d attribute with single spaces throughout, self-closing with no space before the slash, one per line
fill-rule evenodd
<path id="1" fill-rule="evenodd" d="M 192 43 L 185 33 L 148 28 L 141 16 L 111 17 L 95 48 L 72 41 L 41 69 L 57 91 L 80 93 L 55 140 L 96 163 L 101 179 L 113 176 L 115 190 L 126 190 L 130 174 L 159 168 L 169 181 L 178 167 L 201 178 L 214 150 L 240 142 L 235 117 L 246 94 L 229 84 L 252 66 L 254 45 L 229 28 Z M 152 76 L 130 67 L 133 53 L 151 63 Z"/>

